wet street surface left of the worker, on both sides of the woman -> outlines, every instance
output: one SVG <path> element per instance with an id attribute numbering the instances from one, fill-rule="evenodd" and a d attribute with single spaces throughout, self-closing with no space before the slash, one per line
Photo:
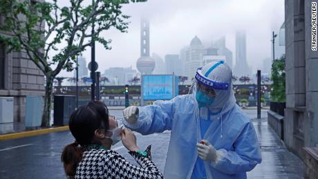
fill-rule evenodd
<path id="1" fill-rule="evenodd" d="M 112 115 L 122 116 L 122 111 L 111 110 Z M 152 145 L 153 161 L 163 171 L 170 132 L 142 136 L 135 133 L 140 149 Z M 0 178 L 66 178 L 61 163 L 62 149 L 74 142 L 69 131 L 48 133 L 30 138 L 0 141 Z M 127 160 L 136 164 L 121 142 L 112 147 Z"/>

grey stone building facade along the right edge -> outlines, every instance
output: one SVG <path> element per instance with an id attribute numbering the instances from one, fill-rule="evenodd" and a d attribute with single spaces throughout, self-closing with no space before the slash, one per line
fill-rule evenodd
<path id="1" fill-rule="evenodd" d="M 296 153 L 305 162 L 307 169 L 310 169 L 310 166 L 306 162 L 308 161 L 306 156 L 317 155 L 308 151 L 315 151 L 311 149 L 318 147 L 318 51 L 311 48 L 312 2 L 318 3 L 317 0 L 285 1 L 284 142 L 290 151 Z M 317 170 L 309 173 L 312 172 L 317 174 Z M 316 177 L 318 178 L 318 175 Z M 305 178 L 308 178 L 308 173 L 305 173 Z"/>

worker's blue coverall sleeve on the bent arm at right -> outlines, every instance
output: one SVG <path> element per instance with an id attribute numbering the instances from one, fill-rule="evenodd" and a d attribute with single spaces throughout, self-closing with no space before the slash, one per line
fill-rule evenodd
<path id="1" fill-rule="evenodd" d="M 244 126 L 243 131 L 234 142 L 234 151 L 219 149 L 217 159 L 212 166 L 227 174 L 236 174 L 254 169 L 261 162 L 261 152 L 254 126 L 251 122 Z"/>

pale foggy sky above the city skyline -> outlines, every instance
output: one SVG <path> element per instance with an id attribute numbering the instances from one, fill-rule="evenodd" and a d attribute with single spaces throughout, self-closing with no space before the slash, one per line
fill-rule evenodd
<path id="1" fill-rule="evenodd" d="M 128 32 L 113 29 L 102 32 L 103 37 L 112 39 L 112 50 L 104 50 L 96 43 L 95 57 L 102 73 L 109 67 L 132 66 L 136 69 L 135 63 L 140 57 L 142 15 L 150 21 L 150 54 L 157 53 L 164 59 L 167 54 L 179 54 L 195 35 L 206 46 L 213 39 L 225 36 L 235 64 L 235 31 L 245 30 L 247 62 L 256 70 L 263 59 L 271 57 L 272 30 L 279 32 L 284 21 L 284 1 L 148 0 L 126 5 L 122 12 L 131 15 Z M 86 48 L 83 56 L 86 62 L 91 61 L 91 49 Z M 73 73 L 63 71 L 59 76 L 73 77 Z"/>

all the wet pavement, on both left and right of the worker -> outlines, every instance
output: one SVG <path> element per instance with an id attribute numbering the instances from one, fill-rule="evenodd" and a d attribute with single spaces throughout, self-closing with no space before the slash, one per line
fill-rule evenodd
<path id="1" fill-rule="evenodd" d="M 256 111 L 245 110 L 251 118 Z M 120 117 L 122 112 L 111 110 L 111 114 Z M 267 113 L 262 111 L 262 119 L 252 120 L 259 136 L 263 162 L 247 173 L 248 178 L 302 178 L 303 163 L 290 153 L 267 123 Z M 138 133 L 140 149 L 152 145 L 153 162 L 163 171 L 170 132 L 142 136 Z M 61 151 L 66 144 L 73 142 L 69 131 L 48 133 L 45 135 L 0 142 L 0 178 L 65 178 Z M 133 162 L 121 142 L 112 147 L 122 156 Z"/>

